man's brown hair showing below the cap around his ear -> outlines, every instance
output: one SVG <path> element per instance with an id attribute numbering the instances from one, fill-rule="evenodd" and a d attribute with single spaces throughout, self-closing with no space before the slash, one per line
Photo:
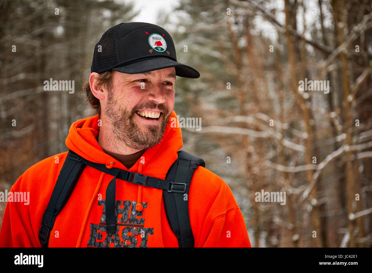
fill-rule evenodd
<path id="1" fill-rule="evenodd" d="M 97 83 L 99 85 L 103 85 L 103 87 L 107 88 L 109 91 L 112 89 L 112 75 L 114 74 L 114 70 L 105 71 L 99 74 L 96 77 Z M 90 90 L 89 81 L 83 84 L 83 92 L 85 95 L 85 100 L 89 104 L 90 107 L 93 108 L 94 114 L 101 115 L 101 105 L 99 103 L 99 99 L 94 97 L 92 90 Z"/>

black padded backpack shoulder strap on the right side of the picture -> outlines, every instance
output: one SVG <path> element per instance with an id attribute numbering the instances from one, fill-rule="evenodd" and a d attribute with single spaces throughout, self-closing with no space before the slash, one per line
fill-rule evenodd
<path id="1" fill-rule="evenodd" d="M 190 153 L 179 151 L 177 160 L 171 165 L 166 176 L 166 180 L 177 183 L 174 188 L 179 187 L 181 189 L 186 184 L 185 193 L 163 190 L 167 219 L 170 228 L 176 234 L 179 247 L 194 247 L 188 200 L 191 179 L 199 165 L 205 167 L 203 159 Z"/>

